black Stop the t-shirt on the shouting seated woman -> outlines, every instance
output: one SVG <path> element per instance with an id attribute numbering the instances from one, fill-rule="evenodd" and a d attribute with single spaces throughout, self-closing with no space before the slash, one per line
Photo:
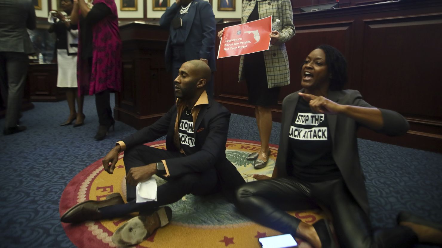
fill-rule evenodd
<path id="1" fill-rule="evenodd" d="M 299 97 L 289 132 L 293 176 L 305 181 L 327 181 L 341 176 L 332 156 L 327 115 L 313 113 Z"/>

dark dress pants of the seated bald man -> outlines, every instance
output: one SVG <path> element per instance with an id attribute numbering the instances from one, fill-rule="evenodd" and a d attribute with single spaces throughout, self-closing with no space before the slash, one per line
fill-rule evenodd
<path id="1" fill-rule="evenodd" d="M 163 159 L 183 157 L 180 152 L 169 152 L 146 145 L 138 145 L 124 152 L 124 165 L 126 174 L 130 168 L 145 166 L 150 163 L 160 162 Z M 157 201 L 136 203 L 136 187 L 127 184 L 127 204 L 114 205 L 100 208 L 103 218 L 113 218 L 127 215 L 132 212 L 149 212 L 157 207 L 172 204 L 187 194 L 205 196 L 220 190 L 218 176 L 215 168 L 202 173 L 183 174 L 173 178 L 165 178 L 167 182 L 157 188 Z"/>

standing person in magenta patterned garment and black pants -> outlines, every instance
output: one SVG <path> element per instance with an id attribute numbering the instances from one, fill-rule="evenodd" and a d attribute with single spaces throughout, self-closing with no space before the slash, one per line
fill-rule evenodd
<path id="1" fill-rule="evenodd" d="M 114 0 L 74 0 L 71 28 L 78 29 L 77 81 L 80 95 L 95 94 L 99 119 L 97 141 L 114 126 L 110 92 L 121 89 L 121 48 L 117 6 Z M 78 117 L 78 116 L 77 116 Z M 83 122 L 78 120 L 77 122 Z"/>

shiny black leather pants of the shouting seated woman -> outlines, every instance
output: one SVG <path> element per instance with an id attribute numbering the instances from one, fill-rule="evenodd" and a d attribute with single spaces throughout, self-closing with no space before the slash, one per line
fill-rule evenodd
<path id="1" fill-rule="evenodd" d="M 303 182 L 294 177 L 253 181 L 236 192 L 236 207 L 263 226 L 296 235 L 300 219 L 286 211 L 326 207 L 341 248 L 408 248 L 417 242 L 412 229 L 396 226 L 373 232 L 370 219 L 342 179 Z"/>

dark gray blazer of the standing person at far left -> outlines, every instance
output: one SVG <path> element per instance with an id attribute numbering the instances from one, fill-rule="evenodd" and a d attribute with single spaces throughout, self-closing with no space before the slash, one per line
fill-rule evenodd
<path id="1" fill-rule="evenodd" d="M 35 10 L 31 0 L 0 1 L 0 52 L 34 53 L 26 29 L 35 29 Z"/>

